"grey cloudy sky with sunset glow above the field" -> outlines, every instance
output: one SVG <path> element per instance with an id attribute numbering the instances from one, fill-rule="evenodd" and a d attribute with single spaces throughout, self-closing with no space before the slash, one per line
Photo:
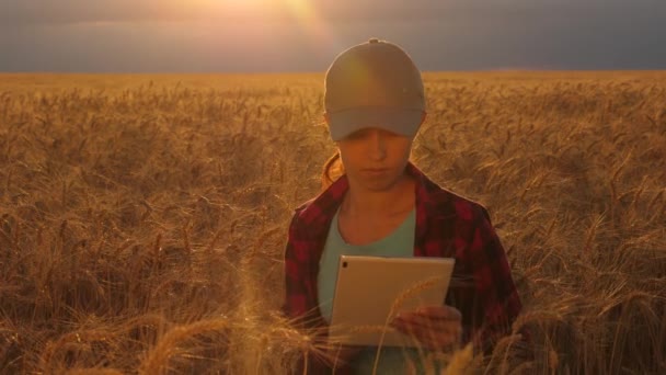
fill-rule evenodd
<path id="1" fill-rule="evenodd" d="M 0 0 L 0 71 L 325 71 L 379 37 L 435 70 L 666 69 L 664 0 Z"/>

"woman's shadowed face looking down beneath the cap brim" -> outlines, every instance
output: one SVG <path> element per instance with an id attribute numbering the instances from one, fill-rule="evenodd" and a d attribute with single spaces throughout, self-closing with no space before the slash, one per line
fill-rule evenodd
<path id="1" fill-rule="evenodd" d="M 370 191 L 384 191 L 404 173 L 412 140 L 384 129 L 367 127 L 336 144 L 351 181 Z"/>

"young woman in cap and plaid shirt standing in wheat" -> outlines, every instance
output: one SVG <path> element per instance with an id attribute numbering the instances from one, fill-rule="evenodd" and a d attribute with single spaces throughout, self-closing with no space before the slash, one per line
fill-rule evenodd
<path id="1" fill-rule="evenodd" d="M 492 350 L 510 331 L 520 300 L 486 209 L 441 189 L 410 162 L 426 118 L 412 59 L 378 39 L 343 52 L 326 72 L 324 106 L 337 152 L 324 166 L 322 193 L 296 209 L 289 227 L 286 315 L 303 328 L 328 326 L 341 254 L 455 257 L 457 282 L 446 303 L 403 314 L 391 325 L 428 350 L 470 341 Z M 334 169 L 342 172 L 335 180 Z M 308 372 L 335 363 L 342 372 L 364 373 L 372 368 L 376 348 L 330 354 L 309 356 Z M 404 355 L 383 348 L 378 373 L 404 373 Z"/>

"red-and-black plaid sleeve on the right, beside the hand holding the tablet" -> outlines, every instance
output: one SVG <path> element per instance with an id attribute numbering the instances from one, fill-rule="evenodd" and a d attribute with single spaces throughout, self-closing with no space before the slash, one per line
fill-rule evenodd
<path id="1" fill-rule="evenodd" d="M 484 352 L 512 330 L 521 303 L 512 277 L 504 248 L 491 224 L 487 211 L 479 207 L 470 243 L 469 269 L 482 307 L 482 321 L 473 340 Z"/>

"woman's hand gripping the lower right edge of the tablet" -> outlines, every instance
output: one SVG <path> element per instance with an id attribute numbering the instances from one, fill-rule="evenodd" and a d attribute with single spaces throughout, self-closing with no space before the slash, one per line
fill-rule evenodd
<path id="1" fill-rule="evenodd" d="M 391 327 L 433 351 L 450 350 L 462 339 L 460 311 L 450 306 L 427 306 L 402 312 L 391 321 Z"/>

